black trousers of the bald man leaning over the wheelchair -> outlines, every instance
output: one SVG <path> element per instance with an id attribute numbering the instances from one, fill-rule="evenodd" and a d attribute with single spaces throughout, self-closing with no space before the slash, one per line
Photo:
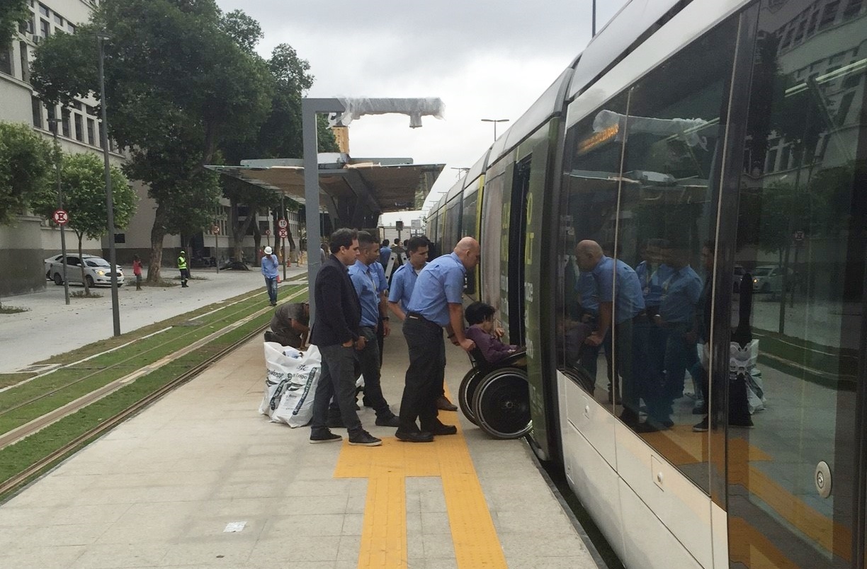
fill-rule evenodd
<path id="1" fill-rule="evenodd" d="M 407 316 L 403 336 L 409 347 L 409 368 L 401 398 L 401 426 L 405 432 L 417 432 L 439 424 L 436 400 L 442 393 L 446 377 L 446 342 L 442 327 L 418 316 Z"/>

